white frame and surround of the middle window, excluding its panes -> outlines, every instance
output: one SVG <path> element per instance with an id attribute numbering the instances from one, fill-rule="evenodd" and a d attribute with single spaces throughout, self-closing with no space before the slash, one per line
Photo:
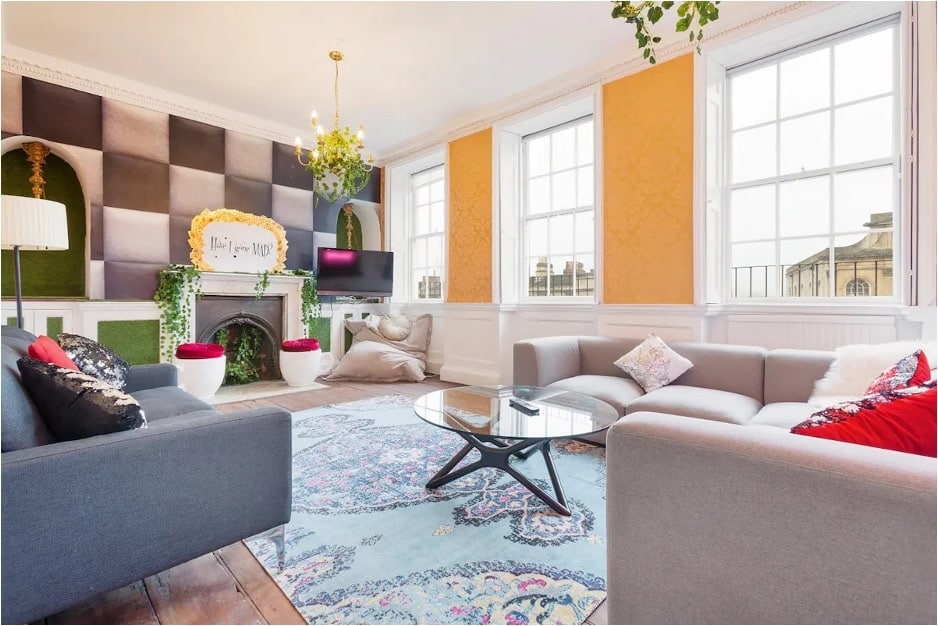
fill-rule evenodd
<path id="1" fill-rule="evenodd" d="M 505 304 L 583 305 L 600 301 L 602 293 L 602 119 L 599 86 L 570 94 L 549 109 L 519 114 L 494 128 L 498 200 L 498 283 L 494 294 Z M 591 296 L 529 296 L 523 202 L 527 177 L 523 171 L 523 138 L 591 116 L 593 118 L 593 241 L 594 278 Z M 559 214 L 559 213 L 558 213 Z"/>

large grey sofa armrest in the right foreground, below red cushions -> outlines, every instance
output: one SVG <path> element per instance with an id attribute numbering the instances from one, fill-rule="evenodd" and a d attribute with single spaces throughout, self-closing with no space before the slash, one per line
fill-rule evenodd
<path id="1" fill-rule="evenodd" d="M 606 444 L 610 624 L 935 623 L 935 459 L 657 413 Z"/>

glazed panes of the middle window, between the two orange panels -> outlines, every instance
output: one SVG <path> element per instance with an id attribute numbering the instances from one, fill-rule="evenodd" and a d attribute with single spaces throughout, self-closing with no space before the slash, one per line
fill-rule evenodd
<path id="1" fill-rule="evenodd" d="M 524 136 L 522 159 L 523 293 L 531 298 L 592 296 L 592 116 Z"/>

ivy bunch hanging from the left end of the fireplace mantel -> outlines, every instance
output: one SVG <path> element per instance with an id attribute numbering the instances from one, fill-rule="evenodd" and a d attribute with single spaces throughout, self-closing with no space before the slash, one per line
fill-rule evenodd
<path id="1" fill-rule="evenodd" d="M 160 282 L 153 301 L 160 308 L 160 354 L 172 361 L 176 347 L 189 340 L 189 320 L 193 311 L 189 296 L 202 297 L 202 281 L 192 265 L 172 264 L 160 270 Z"/>

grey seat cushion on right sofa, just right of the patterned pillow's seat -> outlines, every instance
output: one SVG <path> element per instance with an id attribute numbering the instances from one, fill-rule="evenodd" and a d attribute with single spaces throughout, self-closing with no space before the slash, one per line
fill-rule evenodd
<path id="1" fill-rule="evenodd" d="M 730 424 L 746 424 L 761 408 L 762 403 L 758 400 L 732 391 L 668 385 L 629 402 L 626 413 L 652 411 Z"/>

